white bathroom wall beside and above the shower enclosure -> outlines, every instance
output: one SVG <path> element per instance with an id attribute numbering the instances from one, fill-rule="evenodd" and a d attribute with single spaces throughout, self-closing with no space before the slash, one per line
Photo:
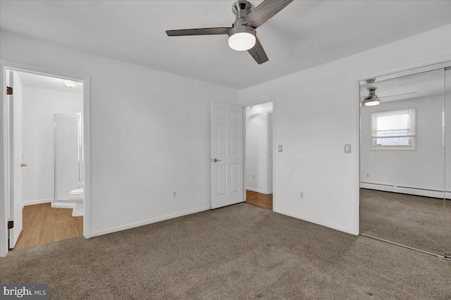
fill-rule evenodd
<path id="1" fill-rule="evenodd" d="M 50 202 L 54 197 L 54 113 L 82 111 L 83 94 L 23 87 L 25 205 Z"/>

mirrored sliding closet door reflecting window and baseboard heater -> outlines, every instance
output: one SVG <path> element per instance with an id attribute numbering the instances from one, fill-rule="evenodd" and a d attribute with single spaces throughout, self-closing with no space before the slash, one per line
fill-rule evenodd
<path id="1" fill-rule="evenodd" d="M 446 72 L 440 64 L 360 82 L 360 232 L 440 256 L 451 253 Z"/>

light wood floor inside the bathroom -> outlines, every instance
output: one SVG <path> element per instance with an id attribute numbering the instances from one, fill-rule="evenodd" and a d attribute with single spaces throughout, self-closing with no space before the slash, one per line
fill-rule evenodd
<path id="1" fill-rule="evenodd" d="M 24 206 L 23 229 L 13 250 L 82 235 L 83 217 L 73 217 L 72 208 L 51 208 L 49 203 Z"/>

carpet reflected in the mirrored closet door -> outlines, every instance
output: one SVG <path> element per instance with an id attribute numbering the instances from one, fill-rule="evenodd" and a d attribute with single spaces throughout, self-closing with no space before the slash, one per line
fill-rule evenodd
<path id="1" fill-rule="evenodd" d="M 443 255 L 445 217 L 443 199 L 360 189 L 360 232 L 372 237 Z"/>

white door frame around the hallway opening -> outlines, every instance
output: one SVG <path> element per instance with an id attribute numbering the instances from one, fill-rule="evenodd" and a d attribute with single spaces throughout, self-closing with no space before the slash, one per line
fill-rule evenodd
<path id="1" fill-rule="evenodd" d="M 242 189 L 243 189 L 243 195 L 244 199 L 243 202 L 246 202 L 246 108 L 249 106 L 256 106 L 260 104 L 266 104 L 266 103 L 273 103 L 273 211 L 276 211 L 276 97 L 270 96 L 266 97 L 264 99 L 256 99 L 253 101 L 249 101 L 249 103 L 244 106 L 242 105 L 242 151 L 243 151 L 243 158 L 242 158 Z M 268 166 L 269 168 L 269 166 Z"/>

